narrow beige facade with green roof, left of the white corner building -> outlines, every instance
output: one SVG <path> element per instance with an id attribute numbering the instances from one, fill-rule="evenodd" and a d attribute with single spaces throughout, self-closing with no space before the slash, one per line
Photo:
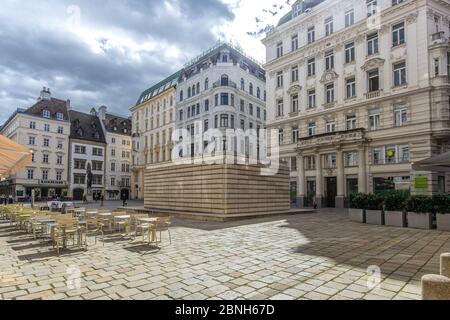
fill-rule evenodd
<path id="1" fill-rule="evenodd" d="M 175 130 L 177 72 L 144 91 L 132 107 L 131 198 L 144 199 L 145 169 L 170 162 Z"/>

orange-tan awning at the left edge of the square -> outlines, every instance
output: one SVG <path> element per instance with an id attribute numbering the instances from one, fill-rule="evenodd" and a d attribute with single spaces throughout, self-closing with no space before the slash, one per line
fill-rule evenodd
<path id="1" fill-rule="evenodd" d="M 0 179 L 16 174 L 31 160 L 29 149 L 0 135 Z"/>

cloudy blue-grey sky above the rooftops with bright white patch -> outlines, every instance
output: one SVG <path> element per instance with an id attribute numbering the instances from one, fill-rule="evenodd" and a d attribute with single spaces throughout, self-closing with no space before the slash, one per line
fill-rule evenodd
<path id="1" fill-rule="evenodd" d="M 285 2 L 2 0 L 0 124 L 32 105 L 43 86 L 77 109 L 107 105 L 128 115 L 142 91 L 218 39 L 264 61 L 261 37 L 247 32 L 276 24 Z"/>

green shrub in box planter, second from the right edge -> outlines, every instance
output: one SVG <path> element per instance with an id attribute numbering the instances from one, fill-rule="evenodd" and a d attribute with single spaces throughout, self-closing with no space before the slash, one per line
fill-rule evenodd
<path id="1" fill-rule="evenodd" d="M 433 198 L 429 196 L 412 196 L 406 204 L 408 210 L 408 227 L 416 229 L 432 229 L 436 212 Z"/>

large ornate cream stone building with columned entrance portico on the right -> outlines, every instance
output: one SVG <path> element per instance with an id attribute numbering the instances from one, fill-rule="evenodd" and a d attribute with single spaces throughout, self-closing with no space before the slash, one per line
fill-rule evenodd
<path id="1" fill-rule="evenodd" d="M 450 4 L 297 1 L 263 40 L 268 127 L 298 205 L 417 191 L 412 163 L 450 149 Z M 422 173 L 448 192 L 445 173 Z"/>

